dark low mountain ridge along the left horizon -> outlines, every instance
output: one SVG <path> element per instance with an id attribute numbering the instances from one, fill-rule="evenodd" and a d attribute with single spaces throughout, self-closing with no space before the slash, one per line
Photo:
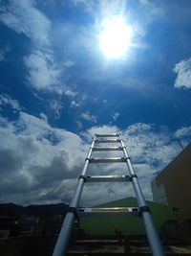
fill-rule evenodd
<path id="1" fill-rule="evenodd" d="M 65 215 L 69 205 L 66 203 L 20 206 L 14 203 L 0 204 L 0 216 L 19 217 L 22 215 L 52 217 Z"/>

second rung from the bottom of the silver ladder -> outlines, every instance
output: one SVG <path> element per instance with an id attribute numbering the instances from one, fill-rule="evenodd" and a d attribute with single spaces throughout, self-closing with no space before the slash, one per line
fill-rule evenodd
<path id="1" fill-rule="evenodd" d="M 131 177 L 129 175 L 86 176 L 86 182 L 118 182 L 118 181 L 131 181 Z"/>

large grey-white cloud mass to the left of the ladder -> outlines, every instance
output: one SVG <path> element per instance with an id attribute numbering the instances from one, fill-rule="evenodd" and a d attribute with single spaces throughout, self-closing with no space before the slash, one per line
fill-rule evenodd
<path id="1" fill-rule="evenodd" d="M 0 119 L 0 140 L 0 190 L 4 202 L 50 200 L 48 195 L 62 180 L 79 175 L 87 151 L 74 133 L 52 128 L 45 119 L 25 112 L 20 112 L 14 122 Z M 57 195 L 57 200 L 65 198 Z"/>

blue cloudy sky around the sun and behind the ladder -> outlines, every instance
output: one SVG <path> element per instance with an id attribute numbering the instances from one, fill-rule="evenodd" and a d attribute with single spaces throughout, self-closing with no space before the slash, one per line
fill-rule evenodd
<path id="1" fill-rule="evenodd" d="M 132 44 L 108 59 L 98 35 L 118 14 Z M 191 138 L 190 15 L 189 0 L 0 0 L 0 201 L 70 201 L 90 135 L 116 131 L 152 199 L 150 180 Z M 132 195 L 92 186 L 81 203 Z"/>

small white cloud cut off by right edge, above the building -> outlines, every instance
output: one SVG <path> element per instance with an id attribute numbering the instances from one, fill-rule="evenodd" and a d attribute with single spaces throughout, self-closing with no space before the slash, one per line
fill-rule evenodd
<path id="1" fill-rule="evenodd" d="M 178 77 L 175 81 L 175 88 L 191 88 L 191 58 L 181 60 L 173 69 Z"/>

